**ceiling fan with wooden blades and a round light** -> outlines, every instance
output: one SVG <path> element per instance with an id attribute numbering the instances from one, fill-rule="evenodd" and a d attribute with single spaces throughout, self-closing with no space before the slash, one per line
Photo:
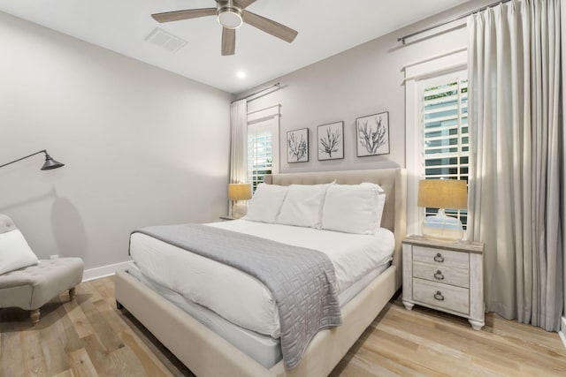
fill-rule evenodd
<path id="1" fill-rule="evenodd" d="M 218 23 L 222 26 L 222 55 L 233 55 L 236 49 L 236 29 L 244 22 L 255 26 L 267 34 L 272 34 L 289 43 L 294 40 L 298 32 L 290 27 L 279 24 L 272 19 L 246 11 L 246 8 L 256 3 L 256 0 L 215 0 L 216 8 L 189 9 L 186 11 L 165 11 L 152 14 L 157 22 L 179 21 L 181 19 L 196 19 L 199 17 L 216 15 Z"/>

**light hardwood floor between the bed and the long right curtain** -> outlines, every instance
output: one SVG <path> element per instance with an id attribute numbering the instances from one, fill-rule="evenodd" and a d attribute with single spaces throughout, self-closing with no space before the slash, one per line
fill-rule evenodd
<path id="1" fill-rule="evenodd" d="M 566 376 L 556 333 L 486 315 L 486 327 L 420 306 L 389 303 L 331 376 Z"/>

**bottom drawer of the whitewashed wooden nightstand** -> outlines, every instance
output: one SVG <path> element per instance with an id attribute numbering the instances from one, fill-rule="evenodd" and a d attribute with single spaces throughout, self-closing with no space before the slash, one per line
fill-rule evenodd
<path id="1" fill-rule="evenodd" d="M 468 314 L 470 295 L 465 288 L 413 278 L 413 299 L 432 307 Z"/>

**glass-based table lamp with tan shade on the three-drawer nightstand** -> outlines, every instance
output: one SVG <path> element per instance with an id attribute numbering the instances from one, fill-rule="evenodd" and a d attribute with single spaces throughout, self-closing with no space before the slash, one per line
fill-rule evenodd
<path id="1" fill-rule="evenodd" d="M 423 223 L 424 238 L 440 241 L 457 241 L 463 238 L 462 222 L 447 216 L 448 209 L 465 209 L 468 201 L 468 184 L 456 179 L 424 179 L 418 183 L 418 207 L 439 208 L 436 215 L 426 216 Z"/>

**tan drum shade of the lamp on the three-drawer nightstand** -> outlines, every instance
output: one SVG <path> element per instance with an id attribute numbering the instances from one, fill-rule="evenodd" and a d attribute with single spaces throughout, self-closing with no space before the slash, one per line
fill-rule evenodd
<path id="1" fill-rule="evenodd" d="M 418 207 L 464 209 L 468 185 L 457 179 L 424 179 L 418 183 Z"/>

